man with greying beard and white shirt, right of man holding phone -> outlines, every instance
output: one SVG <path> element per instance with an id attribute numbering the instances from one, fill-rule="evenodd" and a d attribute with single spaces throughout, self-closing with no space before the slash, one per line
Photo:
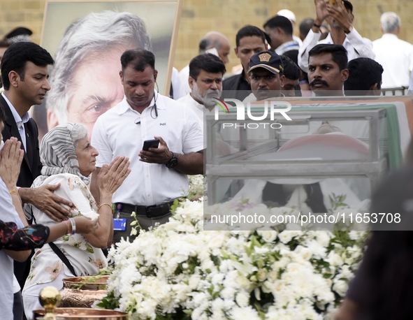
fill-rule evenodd
<path id="1" fill-rule="evenodd" d="M 188 82 L 191 92 L 177 101 L 194 110 L 202 127 L 204 112 L 211 112 L 215 107 L 211 98 L 221 96 L 225 71 L 224 62 L 214 54 L 199 54 L 189 62 Z"/>

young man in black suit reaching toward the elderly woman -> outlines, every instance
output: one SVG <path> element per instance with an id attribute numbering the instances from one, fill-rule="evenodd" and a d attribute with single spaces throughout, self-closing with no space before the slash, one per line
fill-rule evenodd
<path id="1" fill-rule="evenodd" d="M 19 194 L 22 201 L 35 205 L 52 219 L 61 221 L 67 219 L 66 216 L 70 216 L 70 212 L 61 204 L 69 207 L 73 204 L 53 193 L 60 185 L 48 184 L 44 187 L 30 188 L 34 179 L 41 174 L 42 164 L 39 156 L 38 129 L 36 122 L 29 115 L 29 109 L 31 106 L 41 104 L 46 92 L 50 90 L 48 82 L 50 64 L 53 64 L 53 59 L 49 52 L 35 43 L 14 43 L 6 50 L 1 59 L 4 92 L 0 95 L 0 106 L 6 114 L 1 133 L 4 141 L 13 136 L 22 142 L 24 159 L 17 180 L 17 186 L 21 187 Z M 24 285 L 25 275 L 27 277 L 26 264 L 15 263 L 15 275 L 20 286 Z M 19 302 L 21 303 L 20 292 L 15 293 L 13 312 L 22 310 L 22 307 L 16 305 Z M 21 319 L 20 315 L 17 317 L 15 313 L 15 319 Z"/>

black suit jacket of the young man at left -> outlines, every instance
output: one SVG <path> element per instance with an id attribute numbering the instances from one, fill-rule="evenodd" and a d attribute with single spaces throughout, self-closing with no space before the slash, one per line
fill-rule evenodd
<path id="1" fill-rule="evenodd" d="M 13 117 L 13 113 L 1 94 L 0 105 L 6 115 L 6 119 L 4 119 L 4 129 L 1 131 L 3 141 L 8 140 L 10 137 L 16 137 L 21 142 L 22 138 L 20 138 L 19 129 L 17 129 L 17 124 L 15 122 L 15 118 Z M 24 159 L 20 168 L 17 187 L 30 187 L 34 179 L 41 174 L 42 168 L 38 148 L 38 129 L 34 119 L 30 118 L 29 121 L 24 124 L 24 131 L 26 131 L 27 151 L 24 152 Z M 24 150 L 23 143 L 22 150 Z"/>

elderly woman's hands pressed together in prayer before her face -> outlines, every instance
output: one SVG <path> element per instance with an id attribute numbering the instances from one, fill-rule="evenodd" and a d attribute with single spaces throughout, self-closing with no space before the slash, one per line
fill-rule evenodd
<path id="1" fill-rule="evenodd" d="M 110 165 L 104 164 L 97 177 L 99 190 L 102 194 L 110 196 L 121 186 L 122 182 L 131 173 L 129 158 L 116 157 Z"/>

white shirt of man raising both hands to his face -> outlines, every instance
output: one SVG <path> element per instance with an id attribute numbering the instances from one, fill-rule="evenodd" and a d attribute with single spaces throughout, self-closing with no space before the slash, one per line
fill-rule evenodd
<path id="1" fill-rule="evenodd" d="M 331 33 L 328 34 L 327 38 L 319 41 L 320 36 L 321 32 L 314 34 L 310 29 L 303 41 L 303 45 L 301 45 L 300 50 L 298 50 L 298 66 L 303 69 L 304 72 L 308 73 L 308 52 L 312 48 L 321 43 L 333 44 Z M 368 38 L 362 38 L 354 28 L 352 32 L 347 34 L 342 45 L 347 50 L 347 58 L 349 61 L 361 57 L 375 59 L 372 42 Z"/>

